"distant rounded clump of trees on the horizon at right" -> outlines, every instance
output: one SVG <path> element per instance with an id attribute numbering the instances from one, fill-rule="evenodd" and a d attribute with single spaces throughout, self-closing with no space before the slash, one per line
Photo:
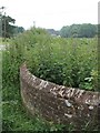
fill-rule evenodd
<path id="1" fill-rule="evenodd" d="M 98 25 L 90 23 L 67 25 L 60 30 L 60 35 L 64 38 L 93 38 L 97 33 Z"/>

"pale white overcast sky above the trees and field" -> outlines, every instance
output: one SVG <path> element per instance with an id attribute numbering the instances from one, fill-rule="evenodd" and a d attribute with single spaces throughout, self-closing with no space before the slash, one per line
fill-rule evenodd
<path id="1" fill-rule="evenodd" d="M 39 28 L 60 30 L 73 23 L 98 23 L 99 0 L 0 0 L 7 16 L 26 30 Z"/>

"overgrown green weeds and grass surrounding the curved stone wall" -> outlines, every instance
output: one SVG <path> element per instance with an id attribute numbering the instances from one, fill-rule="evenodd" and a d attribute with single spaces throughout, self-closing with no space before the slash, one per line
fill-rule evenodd
<path id="1" fill-rule="evenodd" d="M 3 130 L 74 130 L 34 116 L 29 119 L 20 96 L 19 68 L 26 61 L 39 78 L 97 91 L 97 39 L 52 38 L 46 30 L 31 29 L 9 42 L 2 58 Z"/>

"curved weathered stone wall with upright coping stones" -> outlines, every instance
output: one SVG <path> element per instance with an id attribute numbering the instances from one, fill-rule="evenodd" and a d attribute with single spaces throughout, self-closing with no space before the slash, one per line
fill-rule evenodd
<path id="1" fill-rule="evenodd" d="M 58 85 L 20 68 L 21 96 L 24 105 L 46 120 L 73 124 L 76 129 L 99 125 L 100 93 Z"/>

